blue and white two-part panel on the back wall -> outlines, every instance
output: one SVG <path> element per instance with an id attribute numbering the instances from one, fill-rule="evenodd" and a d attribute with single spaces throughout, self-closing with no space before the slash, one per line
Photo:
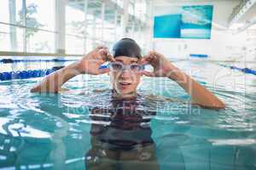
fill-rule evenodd
<path id="1" fill-rule="evenodd" d="M 212 5 L 176 8 L 180 8 L 178 10 L 180 14 L 166 14 L 154 17 L 155 38 L 211 38 Z"/>

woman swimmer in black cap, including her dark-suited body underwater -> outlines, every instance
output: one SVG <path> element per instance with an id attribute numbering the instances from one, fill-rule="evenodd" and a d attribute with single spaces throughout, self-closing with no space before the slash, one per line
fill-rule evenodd
<path id="1" fill-rule="evenodd" d="M 111 100 L 108 108 L 96 106 L 90 111 L 90 118 L 93 120 L 90 128 L 91 147 L 84 156 L 85 168 L 160 169 L 149 124 L 156 113 L 138 109 L 146 97 L 137 94 L 141 77 L 166 77 L 177 82 L 191 96 L 195 105 L 223 109 L 224 103 L 172 65 L 162 54 L 150 52 L 142 56 L 141 48 L 130 38 L 116 42 L 112 51 L 110 54 L 108 48 L 96 48 L 78 62 L 45 77 L 31 91 L 58 93 L 65 82 L 77 75 L 108 73 L 112 84 L 112 90 L 108 93 Z M 106 62 L 109 62 L 109 66 L 101 68 Z M 152 65 L 154 71 L 145 71 L 143 65 Z M 176 167 L 172 169 L 184 169 L 183 159 L 180 162 L 175 162 L 173 165 Z"/>

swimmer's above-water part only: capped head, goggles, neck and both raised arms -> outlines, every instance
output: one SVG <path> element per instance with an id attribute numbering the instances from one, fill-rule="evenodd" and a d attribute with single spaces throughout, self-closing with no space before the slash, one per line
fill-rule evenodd
<path id="1" fill-rule="evenodd" d="M 166 77 L 182 87 L 195 105 L 209 109 L 224 109 L 224 103 L 214 94 L 195 82 L 166 57 L 157 52 L 149 52 L 142 56 L 137 42 L 123 38 L 113 45 L 113 54 L 108 48 L 98 47 L 86 54 L 83 59 L 55 71 L 42 82 L 31 89 L 31 92 L 58 93 L 61 86 L 73 77 L 81 74 L 102 75 L 108 73 L 116 99 L 134 98 L 137 96 L 137 86 L 141 77 Z M 106 62 L 109 68 L 100 68 Z M 143 65 L 152 65 L 154 71 L 144 71 Z"/>

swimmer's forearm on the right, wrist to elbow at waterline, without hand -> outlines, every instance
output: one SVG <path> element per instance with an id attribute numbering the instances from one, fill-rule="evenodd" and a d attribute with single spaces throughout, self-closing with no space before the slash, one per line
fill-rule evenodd
<path id="1" fill-rule="evenodd" d="M 183 73 L 183 71 L 175 68 L 169 78 L 176 81 L 191 96 L 193 104 L 207 108 L 223 109 L 225 107 L 220 99 L 207 90 L 207 88 L 201 86 L 200 83 L 195 82 L 193 78 Z"/>

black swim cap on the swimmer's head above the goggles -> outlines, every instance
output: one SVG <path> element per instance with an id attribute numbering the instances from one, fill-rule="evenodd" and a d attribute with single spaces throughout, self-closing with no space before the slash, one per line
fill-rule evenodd
<path id="1" fill-rule="evenodd" d="M 141 48 L 131 38 L 123 38 L 115 42 L 112 48 L 113 57 L 128 56 L 132 58 L 142 58 Z"/>

